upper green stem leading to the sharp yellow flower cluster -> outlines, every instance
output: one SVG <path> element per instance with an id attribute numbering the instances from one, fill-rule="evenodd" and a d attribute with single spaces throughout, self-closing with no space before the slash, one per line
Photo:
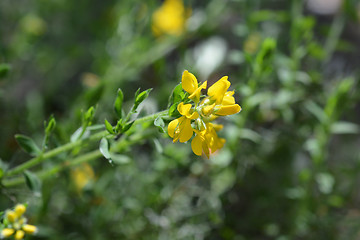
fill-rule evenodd
<path id="1" fill-rule="evenodd" d="M 146 122 L 146 121 L 150 121 L 150 120 L 155 120 L 157 117 L 159 116 L 165 116 L 168 114 L 168 110 L 164 110 L 164 111 L 161 111 L 161 112 L 158 112 L 158 113 L 155 113 L 155 114 L 152 114 L 152 115 L 149 115 L 149 116 L 145 116 L 143 118 L 139 118 L 135 121 L 136 124 L 140 124 L 140 123 L 143 123 L 143 122 Z M 63 146 L 60 146 L 60 147 L 57 147 L 53 150 L 50 150 L 38 157 L 35 157 L 35 158 L 32 158 L 30 159 L 29 161 L 23 163 L 23 164 L 20 164 L 19 166 L 7 171 L 5 173 L 5 177 L 10 177 L 10 176 L 13 176 L 13 175 L 16 175 L 16 174 L 19 174 L 21 172 L 23 172 L 24 170 L 26 169 L 29 169 L 47 159 L 50 159 L 50 158 L 53 158 L 63 152 L 66 152 L 66 151 L 69 151 L 75 147 L 78 147 L 78 146 L 81 146 L 83 143 L 85 142 L 93 142 L 93 141 L 97 141 L 97 140 L 100 140 L 101 138 L 103 137 L 106 137 L 106 136 L 109 136 L 110 134 L 107 132 L 107 130 L 104 130 L 104 131 L 101 131 L 101 132 L 98 132 L 92 136 L 90 136 L 89 138 L 87 139 L 80 139 L 80 140 L 77 140 L 75 142 L 72 142 L 72 143 L 67 143 Z M 80 156 L 81 157 L 81 156 Z"/>

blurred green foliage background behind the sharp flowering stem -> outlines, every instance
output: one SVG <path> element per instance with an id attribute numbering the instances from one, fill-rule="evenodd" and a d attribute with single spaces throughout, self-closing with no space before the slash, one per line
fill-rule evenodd
<path id="1" fill-rule="evenodd" d="M 185 69 L 229 76 L 243 108 L 210 160 L 153 132 L 126 164 L 1 188 L 0 209 L 28 203 L 32 239 L 360 239 L 359 16 L 357 0 L 0 1 L 4 169 L 30 158 L 14 134 L 40 143 L 52 114 L 49 148 L 90 106 L 114 122 L 119 87 L 166 109 Z"/>

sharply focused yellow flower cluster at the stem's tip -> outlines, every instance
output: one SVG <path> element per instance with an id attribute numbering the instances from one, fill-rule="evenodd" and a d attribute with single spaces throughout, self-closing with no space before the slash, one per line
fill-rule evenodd
<path id="1" fill-rule="evenodd" d="M 234 91 L 228 91 L 230 82 L 227 76 L 209 87 L 207 96 L 201 95 L 201 90 L 207 87 L 207 81 L 199 84 L 196 77 L 187 70 L 182 75 L 181 83 L 192 103 L 181 102 L 177 106 L 182 116 L 169 123 L 168 133 L 173 142 L 187 142 L 195 133 L 191 141 L 193 152 L 198 156 L 204 152 L 209 158 L 211 153 L 222 148 L 225 143 L 225 139 L 219 138 L 216 133 L 223 126 L 212 121 L 219 116 L 238 113 L 241 107 L 235 103 Z"/>

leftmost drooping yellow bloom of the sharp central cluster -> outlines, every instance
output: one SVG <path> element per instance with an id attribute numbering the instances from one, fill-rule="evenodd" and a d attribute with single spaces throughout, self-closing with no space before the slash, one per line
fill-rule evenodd
<path id="1" fill-rule="evenodd" d="M 178 111 L 182 117 L 179 117 L 169 123 L 168 133 L 173 138 L 173 142 L 187 142 L 193 135 L 191 120 L 199 117 L 197 112 L 191 112 L 191 104 L 180 103 Z"/>

